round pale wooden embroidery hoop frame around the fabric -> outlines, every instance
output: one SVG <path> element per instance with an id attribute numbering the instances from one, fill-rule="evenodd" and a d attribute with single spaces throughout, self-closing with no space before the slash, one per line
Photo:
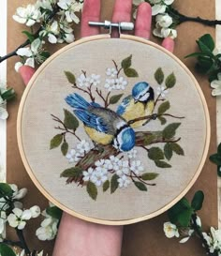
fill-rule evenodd
<path id="1" fill-rule="evenodd" d="M 140 43 L 140 44 L 145 44 L 145 45 L 154 47 L 155 49 L 159 50 L 159 52 L 161 52 L 161 53 L 166 53 L 167 55 L 169 55 L 169 57 L 171 59 L 173 59 L 177 64 L 179 64 L 179 66 L 182 69 L 184 69 L 184 72 L 192 80 L 192 82 L 195 85 L 195 88 L 198 91 L 199 98 L 200 98 L 202 106 L 203 106 L 203 113 L 204 113 L 204 117 L 205 117 L 205 128 L 204 129 L 205 129 L 205 138 L 206 139 L 205 139 L 205 142 L 204 142 L 203 153 L 202 153 L 202 156 L 200 158 L 198 168 L 195 171 L 192 179 L 188 182 L 188 184 L 186 184 L 185 188 L 182 191 L 180 191 L 180 193 L 178 195 L 176 195 L 176 197 L 173 200 L 171 200 L 166 205 L 162 205 L 160 208 L 158 208 L 154 212 L 152 212 L 150 214 L 147 214 L 147 215 L 142 215 L 142 216 L 136 217 L 136 218 L 122 218 L 122 219 L 112 220 L 112 219 L 103 219 L 103 218 L 90 217 L 90 216 L 87 216 L 86 214 L 81 214 L 77 211 L 74 211 L 73 209 L 68 208 L 68 206 L 66 204 L 57 200 L 46 188 L 44 188 L 41 181 L 39 181 L 37 179 L 36 174 L 34 173 L 34 170 L 30 166 L 29 159 L 28 159 L 28 156 L 27 156 L 28 152 L 25 151 L 25 148 L 24 148 L 24 145 L 23 145 L 23 139 L 24 138 L 22 137 L 22 119 L 23 119 L 23 111 L 24 111 L 24 108 L 25 108 L 25 103 L 26 103 L 27 98 L 30 95 L 30 92 L 32 91 L 33 85 L 37 81 L 38 76 L 40 74 L 42 74 L 44 69 L 47 68 L 48 65 L 50 65 L 51 62 L 54 59 L 56 59 L 57 57 L 59 57 L 60 55 L 65 53 L 66 51 L 68 51 L 72 48 L 75 48 L 76 46 L 79 46 L 81 44 L 85 44 L 85 43 L 88 43 L 88 42 L 99 41 L 99 40 L 104 40 L 104 39 L 109 39 L 109 38 L 110 38 L 110 35 L 99 35 L 99 36 L 90 37 L 90 38 L 81 38 L 80 40 L 74 42 L 73 44 L 70 44 L 70 45 L 66 46 L 65 48 L 63 48 L 62 50 L 58 51 L 57 53 L 54 53 L 49 60 L 47 60 L 40 68 L 37 69 L 37 72 L 35 73 L 35 75 L 31 79 L 31 81 L 28 83 L 28 85 L 27 85 L 27 87 L 26 87 L 26 89 L 23 93 L 23 96 L 22 96 L 22 101 L 21 101 L 21 105 L 20 105 L 20 109 L 19 109 L 19 113 L 18 113 L 17 135 L 18 135 L 19 149 L 20 149 L 20 153 L 21 153 L 21 156 L 22 156 L 22 161 L 23 161 L 24 167 L 27 170 L 27 173 L 30 175 L 34 184 L 37 186 L 37 188 L 42 192 L 42 194 L 49 201 L 51 201 L 52 203 L 54 203 L 55 205 L 57 205 L 59 208 L 63 209 L 64 211 L 66 211 L 66 213 L 68 213 L 72 216 L 75 216 L 77 218 L 81 218 L 81 219 L 84 219 L 84 220 L 87 220 L 87 221 L 90 221 L 90 222 L 106 224 L 106 225 L 125 225 L 125 224 L 136 223 L 136 222 L 139 222 L 139 221 L 142 221 L 142 220 L 145 220 L 145 219 L 149 219 L 149 218 L 154 218 L 154 217 L 162 214 L 163 212 L 167 211 L 172 205 L 177 203 L 182 197 L 184 197 L 186 192 L 196 182 L 197 178 L 199 177 L 199 173 L 201 172 L 201 170 L 203 168 L 206 157 L 207 157 L 207 153 L 208 153 L 208 149 L 209 149 L 209 143 L 210 143 L 210 136 L 211 136 L 210 117 L 209 117 L 209 112 L 208 112 L 208 108 L 207 108 L 207 103 L 206 103 L 206 100 L 205 100 L 205 98 L 204 98 L 204 96 L 201 92 L 201 89 L 199 87 L 198 82 L 193 77 L 193 75 L 188 70 L 188 68 L 186 68 L 184 66 L 184 64 L 177 57 L 175 57 L 172 53 L 169 53 L 167 50 L 163 49 L 161 46 L 158 46 L 158 45 L 156 45 L 155 43 L 153 43 L 151 41 L 145 40 L 143 38 L 121 35 L 121 40 L 132 40 L 132 41 Z"/>

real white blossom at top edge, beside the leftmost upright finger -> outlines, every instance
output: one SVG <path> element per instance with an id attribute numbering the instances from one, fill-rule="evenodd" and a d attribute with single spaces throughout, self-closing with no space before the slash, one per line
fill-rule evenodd
<path id="1" fill-rule="evenodd" d="M 82 3 L 77 2 L 75 0 L 59 0 L 57 5 L 65 10 L 66 14 L 66 22 L 67 23 L 79 23 L 80 19 L 75 14 L 75 12 L 79 12 L 82 8 Z"/>

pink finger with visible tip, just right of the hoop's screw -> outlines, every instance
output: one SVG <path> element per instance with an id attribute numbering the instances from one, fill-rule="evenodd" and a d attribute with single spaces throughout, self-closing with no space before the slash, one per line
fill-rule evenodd
<path id="1" fill-rule="evenodd" d="M 152 8 L 148 3 L 140 4 L 135 23 L 135 36 L 150 38 L 152 23 Z"/>

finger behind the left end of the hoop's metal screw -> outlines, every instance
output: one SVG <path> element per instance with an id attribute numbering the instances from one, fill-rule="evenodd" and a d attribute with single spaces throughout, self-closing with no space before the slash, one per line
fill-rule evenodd
<path id="1" fill-rule="evenodd" d="M 88 22 L 100 22 L 100 0 L 85 0 L 81 16 L 81 38 L 99 34 L 99 27 Z"/>

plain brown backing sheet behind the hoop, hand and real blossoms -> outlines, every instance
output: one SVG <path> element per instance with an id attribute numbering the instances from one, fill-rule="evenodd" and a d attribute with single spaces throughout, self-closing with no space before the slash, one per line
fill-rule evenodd
<path id="1" fill-rule="evenodd" d="M 15 12 L 15 9 L 22 4 L 29 3 L 30 1 L 10 0 L 8 5 L 8 44 L 7 52 L 13 50 L 18 44 L 22 43 L 23 37 L 21 35 L 22 25 L 14 23 L 10 18 Z M 113 1 L 103 0 L 103 18 L 109 19 L 111 17 L 111 9 Z M 175 4 L 179 7 L 181 12 L 188 14 L 189 16 L 202 16 L 208 19 L 214 19 L 214 1 L 202 0 L 197 1 L 182 1 L 176 0 Z M 104 19 L 102 19 L 104 20 Z M 214 29 L 208 28 L 200 24 L 184 23 L 179 26 L 179 36 L 176 39 L 175 55 L 177 55 L 184 63 L 194 72 L 193 59 L 184 60 L 184 55 L 187 53 L 195 52 L 196 43 L 195 40 L 205 33 L 210 33 L 214 36 Z M 54 49 L 55 51 L 56 49 Z M 14 63 L 16 58 L 12 58 L 7 63 L 7 82 L 12 84 L 18 92 L 18 98 L 15 102 L 9 105 L 8 111 L 10 117 L 7 122 L 7 181 L 10 183 L 17 183 L 21 187 L 29 189 L 29 193 L 24 200 L 26 207 L 31 206 L 33 203 L 39 204 L 42 208 L 47 205 L 47 201 L 42 197 L 37 188 L 32 184 L 27 176 L 22 160 L 19 155 L 17 141 L 16 141 L 16 116 L 19 106 L 19 102 L 22 96 L 24 86 L 19 75 L 14 73 Z M 209 110 L 211 113 L 212 126 L 212 139 L 210 145 L 210 153 L 212 154 L 216 150 L 216 128 L 215 128 L 215 99 L 211 97 L 211 90 L 206 77 L 202 77 L 194 72 L 204 95 L 207 99 Z M 193 110 L 194 111 L 194 110 Z M 198 189 L 202 189 L 205 193 L 205 207 L 200 211 L 199 215 L 204 223 L 204 228 L 217 225 L 217 178 L 215 166 L 208 160 L 203 168 L 202 173 L 199 176 L 199 180 L 195 186 L 188 193 L 187 197 L 191 198 L 194 192 Z M 35 200 L 34 200 L 35 199 Z M 192 239 L 188 241 L 186 245 L 181 245 L 176 239 L 167 239 L 163 233 L 163 222 L 168 220 L 167 215 L 161 215 L 160 217 L 152 220 L 140 222 L 125 227 L 124 243 L 123 243 L 123 256 L 146 256 L 146 255 L 179 255 L 182 256 L 201 256 L 203 248 L 198 239 Z M 39 220 L 37 221 L 39 222 Z M 37 228 L 36 221 L 30 223 L 26 232 L 29 235 L 29 243 L 32 248 L 46 248 L 49 252 L 52 250 L 52 243 L 50 242 L 37 242 L 35 237 L 35 230 Z M 10 238 L 12 234 L 8 235 Z"/>

